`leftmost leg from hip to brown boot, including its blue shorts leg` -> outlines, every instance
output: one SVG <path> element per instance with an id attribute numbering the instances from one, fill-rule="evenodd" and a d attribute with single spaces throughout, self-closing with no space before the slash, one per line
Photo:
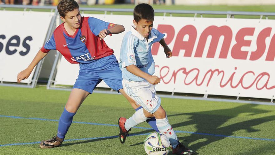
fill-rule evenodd
<path id="1" fill-rule="evenodd" d="M 97 71 L 93 70 L 93 63 L 79 65 L 80 70 L 78 79 L 73 86 L 73 90 L 71 91 L 64 111 L 59 119 L 57 137 L 53 137 L 51 140 L 42 141 L 40 143 L 41 148 L 52 148 L 61 145 L 79 106 L 89 94 L 93 93 L 95 87 L 101 82 Z"/>

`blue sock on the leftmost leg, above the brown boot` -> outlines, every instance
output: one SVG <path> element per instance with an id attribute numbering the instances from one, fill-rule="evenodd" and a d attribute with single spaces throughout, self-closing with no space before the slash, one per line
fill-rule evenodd
<path id="1" fill-rule="evenodd" d="M 73 116 L 75 113 L 68 112 L 66 108 L 64 108 L 63 113 L 60 116 L 59 123 L 58 123 L 58 132 L 57 137 L 58 138 L 65 138 L 66 133 L 69 130 L 69 127 L 72 124 Z"/>

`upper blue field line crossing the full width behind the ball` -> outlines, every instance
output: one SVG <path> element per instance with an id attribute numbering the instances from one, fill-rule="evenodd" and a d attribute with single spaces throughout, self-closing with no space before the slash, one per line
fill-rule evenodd
<path id="1" fill-rule="evenodd" d="M 52 120 L 52 119 L 27 118 L 27 117 L 5 116 L 5 115 L 0 115 L 0 117 L 17 118 L 17 119 L 32 119 L 32 120 L 42 120 L 42 121 L 58 121 L 58 120 Z M 80 121 L 73 121 L 73 123 L 118 127 L 118 125 L 114 125 L 114 124 L 90 123 L 90 122 L 80 122 Z M 145 129 L 145 130 L 152 130 L 153 129 L 153 128 L 148 128 L 148 127 L 133 127 L 133 128 L 139 128 L 139 129 Z M 189 134 L 197 134 L 197 135 L 215 136 L 215 137 L 230 137 L 230 138 L 242 138 L 242 139 L 263 140 L 263 141 L 275 141 L 275 139 L 268 139 L 268 138 L 226 136 L 226 135 L 217 135 L 217 134 L 200 133 L 200 132 L 189 132 L 189 131 L 180 131 L 180 130 L 175 130 L 175 132 L 176 133 L 189 133 Z"/>

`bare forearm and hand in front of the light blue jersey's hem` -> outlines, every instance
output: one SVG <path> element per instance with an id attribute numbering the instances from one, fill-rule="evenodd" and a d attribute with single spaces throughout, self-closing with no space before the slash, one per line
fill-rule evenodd
<path id="1" fill-rule="evenodd" d="M 126 66 L 126 70 L 128 70 L 133 75 L 136 75 L 138 77 L 141 77 L 141 78 L 147 80 L 152 85 L 157 85 L 160 82 L 160 79 L 158 78 L 158 76 L 149 75 L 149 74 L 143 72 L 142 70 L 140 70 L 136 65 Z"/>

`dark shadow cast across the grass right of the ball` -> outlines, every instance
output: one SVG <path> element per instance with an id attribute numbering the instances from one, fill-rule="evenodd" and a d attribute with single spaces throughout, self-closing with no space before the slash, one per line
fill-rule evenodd
<path id="1" fill-rule="evenodd" d="M 275 120 L 275 115 L 273 115 L 273 116 L 255 118 L 255 119 L 223 126 L 223 124 L 226 123 L 228 120 L 235 118 L 244 113 L 247 113 L 247 115 L 251 116 L 251 115 L 270 112 L 268 110 L 257 109 L 255 108 L 256 106 L 258 105 L 244 104 L 231 109 L 180 113 L 175 115 L 168 115 L 168 120 L 171 117 L 178 117 L 177 119 L 181 120 L 181 116 L 185 116 L 184 118 L 186 118 L 186 116 L 190 116 L 188 118 L 188 121 L 172 124 L 171 126 L 173 128 L 176 128 L 176 127 L 183 127 L 188 125 L 195 125 L 195 128 L 197 128 L 197 131 L 194 131 L 194 133 L 192 133 L 190 136 L 179 137 L 179 139 L 180 140 L 185 139 L 183 141 L 185 146 L 188 146 L 188 144 L 192 142 L 204 139 L 203 142 L 198 142 L 189 146 L 192 150 L 196 151 L 212 142 L 216 142 L 228 136 L 232 136 L 234 132 L 239 130 L 246 130 L 247 132 L 260 132 L 259 129 L 255 129 L 253 128 L 253 126 Z M 149 132 L 149 130 L 143 131 L 143 132 Z M 209 134 L 209 135 L 201 135 L 200 133 Z M 139 134 L 139 132 L 135 134 Z M 143 144 L 143 142 L 139 142 L 131 146 L 136 146 L 141 144 Z"/>

